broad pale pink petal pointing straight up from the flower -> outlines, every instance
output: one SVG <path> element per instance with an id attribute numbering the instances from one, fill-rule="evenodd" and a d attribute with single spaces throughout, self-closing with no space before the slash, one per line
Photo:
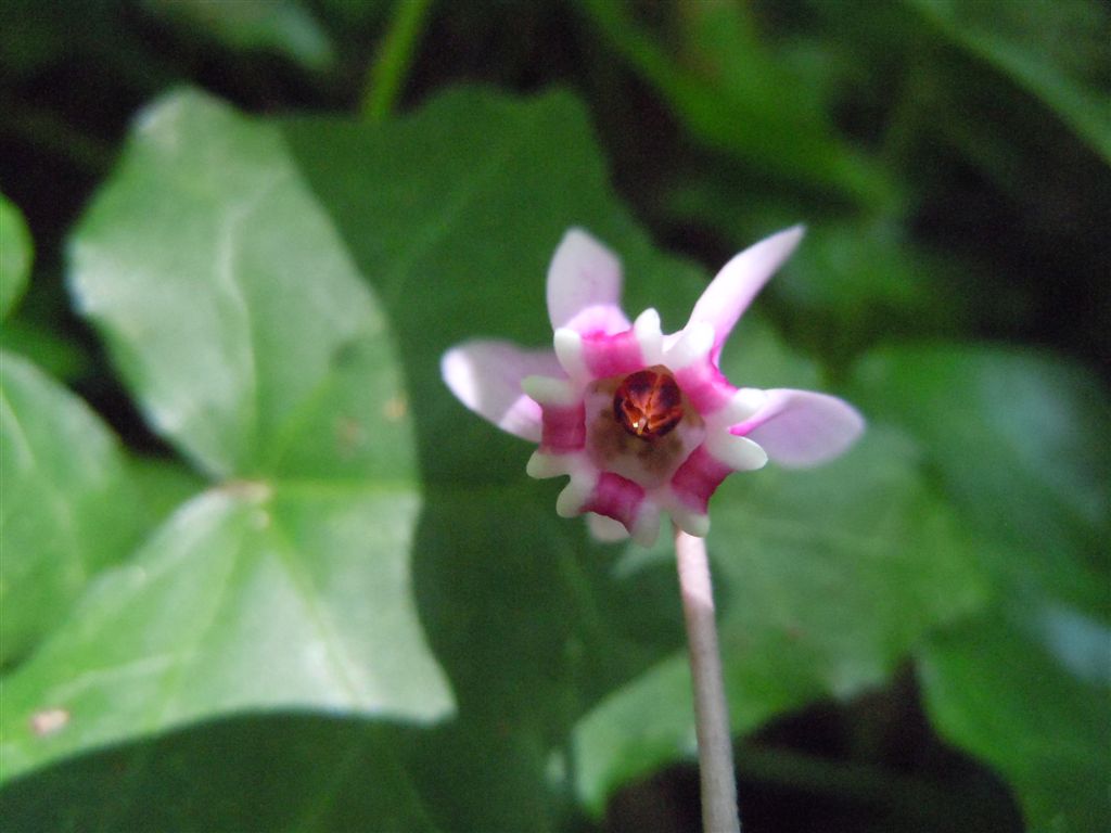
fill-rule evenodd
<path id="1" fill-rule="evenodd" d="M 552 329 L 612 334 L 629 328 L 621 311 L 621 262 L 582 229 L 563 234 L 548 268 Z"/>

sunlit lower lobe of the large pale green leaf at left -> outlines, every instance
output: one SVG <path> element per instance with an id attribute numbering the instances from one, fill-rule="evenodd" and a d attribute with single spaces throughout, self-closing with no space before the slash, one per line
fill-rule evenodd
<path id="1" fill-rule="evenodd" d="M 442 716 L 410 599 L 417 510 L 373 484 L 232 483 L 187 503 L 6 681 L 4 776 L 246 710 Z M 51 712 L 63 725 L 37 730 Z"/>

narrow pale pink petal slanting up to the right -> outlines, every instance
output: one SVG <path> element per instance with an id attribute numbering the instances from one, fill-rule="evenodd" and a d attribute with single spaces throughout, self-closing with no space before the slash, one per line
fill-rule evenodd
<path id="1" fill-rule="evenodd" d="M 711 355 L 717 360 L 721 345 L 732 332 L 741 313 L 752 303 L 768 279 L 802 240 L 803 227 L 794 225 L 764 238 L 729 261 L 705 288 L 694 304 L 687 327 L 705 321 L 713 327 Z"/>

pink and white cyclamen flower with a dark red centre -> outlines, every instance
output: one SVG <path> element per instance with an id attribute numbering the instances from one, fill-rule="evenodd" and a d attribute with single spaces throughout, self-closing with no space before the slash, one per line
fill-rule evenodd
<path id="1" fill-rule="evenodd" d="M 734 257 L 664 335 L 655 310 L 630 324 L 621 264 L 581 229 L 564 235 L 548 270 L 554 350 L 476 340 L 449 350 L 443 379 L 460 401 L 504 431 L 539 443 L 527 471 L 570 476 L 556 511 L 588 514 L 603 540 L 651 545 L 661 514 L 692 535 L 734 471 L 769 458 L 805 466 L 837 456 L 863 420 L 835 397 L 734 388 L 718 368 L 741 313 L 802 239 L 794 227 Z"/>

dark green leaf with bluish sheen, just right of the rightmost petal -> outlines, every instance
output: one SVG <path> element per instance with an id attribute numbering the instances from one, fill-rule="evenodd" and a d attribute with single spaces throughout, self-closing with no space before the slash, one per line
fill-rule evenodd
<path id="1" fill-rule="evenodd" d="M 851 395 L 919 439 L 1008 588 L 1109 615 L 1111 405 L 1091 373 L 1031 351 L 908 347 L 862 361 Z"/>

